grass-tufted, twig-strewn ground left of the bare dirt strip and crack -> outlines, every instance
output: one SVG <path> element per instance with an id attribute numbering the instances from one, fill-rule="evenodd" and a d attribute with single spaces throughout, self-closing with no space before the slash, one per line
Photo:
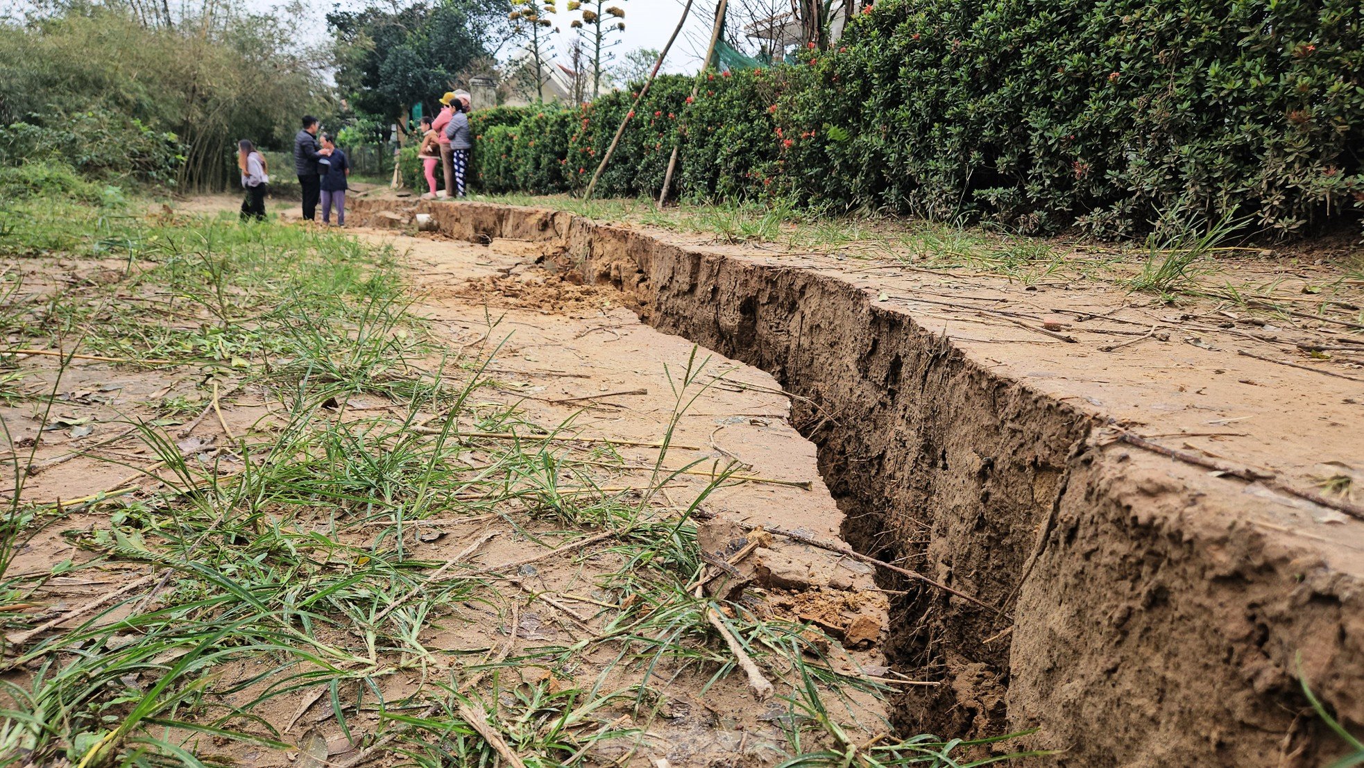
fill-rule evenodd
<path id="1" fill-rule="evenodd" d="M 668 461 L 671 430 L 641 477 L 488 400 L 488 359 L 438 351 L 391 251 L 0 188 L 0 372 L 18 376 L 0 409 L 0 763 L 626 764 L 679 688 L 701 707 L 745 690 L 716 621 L 782 683 L 764 761 L 994 760 L 885 737 L 855 701 L 893 681 L 837 667 L 812 625 L 694 589 L 693 513 L 737 480 L 674 503 L 662 488 L 690 465 Z M 67 382 L 89 400 L 109 371 L 150 393 L 105 408 L 127 441 L 101 446 L 124 447 L 53 458 L 49 427 L 82 427 L 56 422 Z M 700 357 L 672 374 L 675 424 L 716 374 Z M 232 392 L 259 400 L 250 419 Z M 31 488 L 108 464 L 132 475 L 76 499 Z M 509 542 L 510 566 L 477 565 Z"/>

